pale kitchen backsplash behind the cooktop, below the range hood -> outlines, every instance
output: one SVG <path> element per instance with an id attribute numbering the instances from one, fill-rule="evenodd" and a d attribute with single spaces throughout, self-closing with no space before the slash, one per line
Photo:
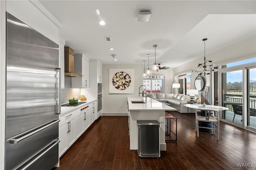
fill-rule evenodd
<path id="1" fill-rule="evenodd" d="M 68 103 L 69 99 L 80 99 L 80 88 L 71 88 L 71 77 L 65 76 L 65 88 L 61 89 L 61 104 Z"/>

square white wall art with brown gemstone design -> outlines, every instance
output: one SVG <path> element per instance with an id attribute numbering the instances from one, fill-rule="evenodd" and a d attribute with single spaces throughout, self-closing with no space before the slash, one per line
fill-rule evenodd
<path id="1" fill-rule="evenodd" d="M 134 68 L 109 68 L 109 94 L 134 94 Z"/>

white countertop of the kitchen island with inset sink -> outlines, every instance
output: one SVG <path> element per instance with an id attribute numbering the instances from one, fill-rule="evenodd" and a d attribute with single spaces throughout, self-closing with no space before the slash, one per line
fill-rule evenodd
<path id="1" fill-rule="evenodd" d="M 145 98 L 143 98 L 145 101 Z M 132 101 L 141 101 L 142 97 L 128 97 L 129 110 L 168 110 L 176 111 L 174 107 L 170 107 L 164 103 L 158 102 L 154 99 L 147 98 L 146 104 L 133 104 Z"/>

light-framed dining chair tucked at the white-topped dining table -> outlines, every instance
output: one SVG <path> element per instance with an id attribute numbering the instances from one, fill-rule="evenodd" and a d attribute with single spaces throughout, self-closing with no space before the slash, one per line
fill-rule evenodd
<path id="1" fill-rule="evenodd" d="M 196 133 L 197 133 L 197 137 L 199 137 L 199 128 L 213 129 L 213 133 L 214 134 L 215 134 L 215 130 L 217 130 L 218 140 L 219 140 L 219 138 L 220 138 L 219 111 L 218 110 L 205 111 L 205 115 L 204 116 L 200 115 L 200 113 L 202 111 L 203 110 L 196 109 Z M 215 113 L 212 115 L 212 111 L 216 112 L 217 115 L 215 116 Z M 202 126 L 199 126 L 198 125 L 199 121 L 213 123 L 213 127 L 202 127 Z"/>

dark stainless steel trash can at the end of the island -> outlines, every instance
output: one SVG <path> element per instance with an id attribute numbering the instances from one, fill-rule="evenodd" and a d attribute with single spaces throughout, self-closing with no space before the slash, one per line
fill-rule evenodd
<path id="1" fill-rule="evenodd" d="M 160 126 L 156 120 L 137 120 L 138 155 L 140 158 L 160 157 Z"/>

